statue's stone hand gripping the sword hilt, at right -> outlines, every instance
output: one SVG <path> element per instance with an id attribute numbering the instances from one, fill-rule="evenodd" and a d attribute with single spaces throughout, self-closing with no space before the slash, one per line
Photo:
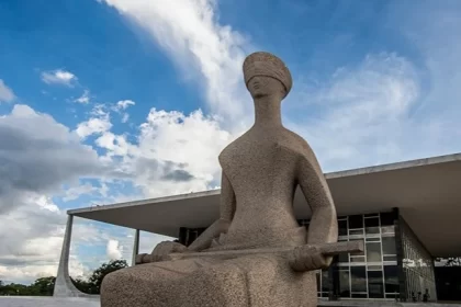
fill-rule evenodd
<path id="1" fill-rule="evenodd" d="M 324 270 L 333 258 L 323 255 L 315 246 L 296 247 L 289 255 L 290 266 L 297 272 Z"/>

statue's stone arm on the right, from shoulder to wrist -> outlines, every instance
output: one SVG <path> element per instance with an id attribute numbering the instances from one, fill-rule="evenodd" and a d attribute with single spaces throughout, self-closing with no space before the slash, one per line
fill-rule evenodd
<path id="1" fill-rule="evenodd" d="M 312 211 L 307 243 L 338 240 L 338 221 L 331 193 L 312 149 L 299 159 L 297 182 Z"/>

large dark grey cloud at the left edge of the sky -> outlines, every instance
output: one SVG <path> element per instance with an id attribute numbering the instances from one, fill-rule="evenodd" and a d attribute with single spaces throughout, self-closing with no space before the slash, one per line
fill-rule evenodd
<path id="1" fill-rule="evenodd" d="M 98 154 L 53 117 L 26 105 L 0 116 L 0 213 L 27 193 L 52 193 L 80 177 L 108 173 Z"/>

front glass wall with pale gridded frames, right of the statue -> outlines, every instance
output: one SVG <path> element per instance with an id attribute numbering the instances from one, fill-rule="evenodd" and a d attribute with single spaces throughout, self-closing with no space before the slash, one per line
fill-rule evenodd
<path id="1" fill-rule="evenodd" d="M 340 254 L 328 271 L 317 272 L 319 297 L 398 297 L 395 216 L 392 212 L 338 218 L 339 241 L 363 240 L 366 250 Z M 308 220 L 300 224 L 308 229 Z"/>

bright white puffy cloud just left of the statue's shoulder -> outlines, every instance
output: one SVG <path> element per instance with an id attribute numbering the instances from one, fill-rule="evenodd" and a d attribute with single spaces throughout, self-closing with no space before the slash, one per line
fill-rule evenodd
<path id="1" fill-rule="evenodd" d="M 216 118 L 200 110 L 184 115 L 151 109 L 136 143 L 111 130 L 94 143 L 105 149 L 105 159 L 117 161 L 117 168 L 145 196 L 154 197 L 204 191 L 215 184 L 218 152 L 231 139 Z"/>

